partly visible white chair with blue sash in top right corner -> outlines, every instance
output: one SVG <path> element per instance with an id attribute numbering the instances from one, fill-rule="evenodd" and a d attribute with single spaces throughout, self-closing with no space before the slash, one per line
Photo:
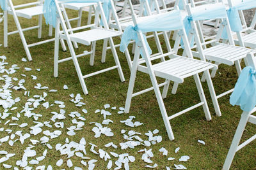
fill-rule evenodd
<path id="1" fill-rule="evenodd" d="M 228 0 L 228 18 L 232 31 L 237 33 L 236 45 L 247 46 L 256 49 L 256 13 L 250 27 L 247 27 L 243 10 L 256 8 L 254 0 Z M 241 34 L 242 33 L 242 34 Z M 225 38 L 225 37 L 224 37 Z"/>

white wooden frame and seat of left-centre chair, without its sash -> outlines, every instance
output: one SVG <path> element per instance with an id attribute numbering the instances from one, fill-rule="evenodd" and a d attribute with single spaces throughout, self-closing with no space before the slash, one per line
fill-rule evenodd
<path id="1" fill-rule="evenodd" d="M 81 26 L 81 27 L 77 27 L 77 28 L 71 28 L 71 27 L 68 27 L 69 24 L 68 24 L 68 22 L 66 22 L 68 20 L 67 13 L 65 13 L 65 10 L 63 10 L 63 12 L 61 11 L 60 4 L 58 3 L 57 0 L 54 0 L 54 1 L 57 4 L 56 6 L 57 6 L 57 11 L 58 11 L 58 16 L 60 16 L 60 18 L 58 18 L 58 20 L 60 20 L 60 24 L 63 29 L 63 31 L 60 31 L 60 26 L 57 27 L 58 31 L 56 31 L 56 34 L 58 34 L 58 35 L 56 35 L 55 40 L 59 41 L 60 39 L 65 39 L 67 41 L 68 48 L 69 48 L 70 54 L 71 54 L 71 59 L 73 60 L 74 66 L 76 67 L 77 76 L 81 83 L 81 87 L 83 89 L 84 94 L 88 94 L 88 89 L 85 85 L 84 78 L 88 78 L 88 77 L 94 76 L 96 74 L 104 73 L 104 72 L 110 71 L 112 69 L 117 69 L 118 74 L 120 76 L 120 80 L 125 81 L 124 74 L 122 72 L 122 67 L 120 66 L 120 62 L 118 60 L 118 56 L 117 56 L 117 53 L 115 50 L 115 45 L 114 45 L 113 39 L 112 39 L 115 36 L 120 36 L 122 34 L 122 32 L 109 29 L 108 23 L 107 23 L 107 20 L 106 20 L 106 17 L 105 17 L 103 8 L 102 8 L 102 3 L 101 2 L 97 3 L 98 8 L 95 11 L 94 24 L 85 25 L 85 26 Z M 100 25 L 99 17 L 102 19 L 103 27 Z M 64 18 L 66 18 L 66 20 Z M 83 31 L 84 28 L 90 28 L 90 29 Z M 73 33 L 73 31 L 76 31 L 76 33 Z M 102 69 L 100 71 L 95 71 L 93 73 L 83 75 L 81 72 L 81 68 L 79 66 L 77 58 L 90 54 L 90 66 L 93 66 L 94 58 L 95 58 L 96 42 L 98 40 L 102 40 L 102 39 L 108 39 L 108 41 L 109 41 L 109 44 L 111 46 L 111 50 L 113 53 L 113 57 L 115 59 L 115 66 L 108 67 L 108 68 Z M 76 42 L 76 43 L 82 43 L 83 45 L 92 45 L 92 50 L 90 52 L 76 55 L 74 46 L 72 45 L 72 41 Z M 54 76 L 58 76 L 58 64 L 60 62 L 65 62 L 66 60 L 70 60 L 70 57 L 68 57 L 67 59 L 59 60 L 58 52 L 56 52 L 59 50 L 58 42 L 55 42 L 55 45 L 56 46 L 55 46 L 55 52 L 54 52 L 55 53 Z"/>

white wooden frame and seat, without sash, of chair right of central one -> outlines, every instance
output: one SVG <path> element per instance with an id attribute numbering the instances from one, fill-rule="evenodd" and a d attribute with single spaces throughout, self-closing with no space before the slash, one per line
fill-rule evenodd
<path id="1" fill-rule="evenodd" d="M 191 0 L 191 2 L 193 2 L 193 0 Z M 193 4 L 193 3 L 191 3 Z M 216 4 L 204 4 L 202 6 L 195 6 L 195 7 L 191 7 L 191 6 L 187 6 L 187 11 L 188 11 L 188 15 L 193 15 L 193 12 L 196 12 L 198 10 L 202 10 L 202 9 L 209 9 L 209 8 L 216 8 L 216 6 L 221 6 L 223 5 L 222 3 L 216 3 Z M 207 13 L 206 10 L 204 10 L 205 13 Z M 205 14 L 207 15 L 207 14 Z M 204 38 L 204 35 L 202 34 L 202 27 L 200 27 L 199 22 L 195 22 L 195 21 L 191 21 L 191 25 L 193 28 L 193 32 L 191 32 L 191 34 L 193 33 L 193 35 L 195 36 L 195 43 L 196 43 L 196 50 L 197 52 L 193 52 L 193 55 L 195 57 L 200 57 L 201 60 L 209 60 L 211 62 L 214 62 L 215 64 L 219 65 L 219 64 L 226 64 L 228 66 L 232 66 L 234 64 L 236 64 L 236 69 L 237 69 L 237 74 L 239 75 L 241 73 L 241 66 L 240 66 L 240 60 L 241 59 L 246 59 L 246 55 L 248 53 L 252 53 L 252 52 L 256 52 L 255 50 L 252 49 L 248 49 L 248 48 L 244 48 L 241 46 L 235 46 L 234 43 L 234 39 L 232 37 L 232 33 L 231 33 L 231 29 L 230 29 L 230 25 L 228 22 L 227 17 L 226 18 L 216 18 L 216 19 L 220 19 L 221 22 L 225 25 L 225 29 L 227 31 L 228 34 L 228 42 L 229 44 L 225 44 L 225 43 L 220 43 L 220 38 L 221 38 L 221 32 L 223 31 L 223 25 L 220 25 L 220 29 L 218 34 L 216 35 L 216 39 L 212 40 L 212 41 L 205 41 L 205 43 L 202 43 L 204 41 L 202 41 L 202 39 Z M 225 22 L 223 22 L 225 21 Z M 199 26 L 198 26 L 199 25 Z M 200 30 L 200 32 L 198 31 Z M 211 43 L 211 44 L 210 44 Z M 209 47 L 209 45 L 207 46 L 208 48 L 206 48 L 205 45 L 210 44 L 211 46 Z M 195 55 L 195 53 L 197 53 Z M 205 72 L 203 77 L 202 77 L 202 81 L 204 81 L 205 79 L 208 79 L 209 81 L 209 77 L 206 78 L 206 74 L 207 76 L 210 76 L 209 73 Z M 216 69 L 212 71 L 211 73 L 211 77 L 214 77 L 216 74 Z M 209 82 L 208 83 L 209 87 L 212 87 L 212 83 Z M 214 109 L 216 111 L 216 115 L 221 116 L 221 112 L 218 106 L 218 102 L 216 103 L 217 99 L 227 95 L 228 93 L 232 92 L 232 90 L 228 90 L 227 92 L 224 92 L 223 94 L 220 94 L 219 96 L 216 96 L 214 89 L 211 90 L 211 98 L 212 98 L 212 102 L 214 104 Z"/>

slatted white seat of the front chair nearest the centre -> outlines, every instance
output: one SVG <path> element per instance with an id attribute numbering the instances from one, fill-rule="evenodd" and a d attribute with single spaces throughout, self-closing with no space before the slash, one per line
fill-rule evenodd
<path id="1" fill-rule="evenodd" d="M 153 65 L 156 76 L 183 83 L 184 78 L 201 73 L 208 69 L 217 69 L 218 66 L 201 60 L 189 59 L 186 57 L 175 57 Z M 148 73 L 146 66 L 139 65 L 139 71 Z"/>

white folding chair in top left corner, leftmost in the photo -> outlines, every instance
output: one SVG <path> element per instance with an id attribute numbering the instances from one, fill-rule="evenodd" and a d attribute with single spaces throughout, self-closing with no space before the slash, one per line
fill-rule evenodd
<path id="1" fill-rule="evenodd" d="M 12 0 L 6 0 L 6 2 L 8 3 L 8 8 L 4 10 L 4 47 L 8 46 L 8 36 L 19 33 L 23 46 L 25 48 L 28 60 L 32 60 L 31 53 L 29 52 L 30 47 L 54 41 L 54 38 L 52 38 L 52 39 L 47 39 L 44 41 L 40 41 L 40 42 L 32 43 L 28 45 L 26 38 L 23 34 L 23 31 L 38 29 L 38 38 L 41 38 L 42 18 L 43 18 L 43 6 L 42 6 L 43 2 L 42 1 L 43 0 L 36 1 L 34 3 L 20 4 L 17 6 L 13 6 Z M 29 6 L 32 6 L 32 7 L 29 7 Z M 19 10 L 19 8 L 21 9 Z M 17 29 L 18 29 L 17 31 L 8 32 L 8 14 L 13 15 L 13 19 L 15 21 L 15 24 L 17 25 Z M 18 17 L 31 19 L 32 17 L 35 17 L 35 16 L 39 17 L 38 25 L 22 29 Z"/>

